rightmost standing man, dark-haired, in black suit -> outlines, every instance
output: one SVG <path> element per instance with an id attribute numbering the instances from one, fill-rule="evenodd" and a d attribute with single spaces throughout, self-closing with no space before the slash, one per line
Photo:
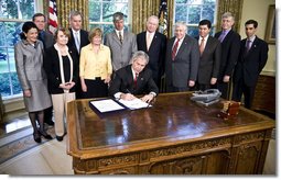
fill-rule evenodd
<path id="1" fill-rule="evenodd" d="M 233 100 L 240 101 L 244 94 L 247 109 L 251 108 L 259 75 L 268 60 L 268 44 L 256 35 L 257 27 L 255 20 L 245 23 L 247 38 L 241 41 L 234 74 Z"/>

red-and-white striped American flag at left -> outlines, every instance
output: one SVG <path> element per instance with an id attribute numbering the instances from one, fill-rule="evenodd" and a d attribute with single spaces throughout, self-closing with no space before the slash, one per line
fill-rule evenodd
<path id="1" fill-rule="evenodd" d="M 54 34 L 57 29 L 56 0 L 48 1 L 48 31 Z"/>

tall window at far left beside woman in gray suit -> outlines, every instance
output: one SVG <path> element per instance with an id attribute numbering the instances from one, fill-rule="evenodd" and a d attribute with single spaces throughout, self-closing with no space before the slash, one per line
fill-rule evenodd
<path id="1" fill-rule="evenodd" d="M 34 0 L 0 0 L 0 93 L 3 99 L 22 93 L 14 63 L 14 44 L 22 23 L 31 20 Z"/>

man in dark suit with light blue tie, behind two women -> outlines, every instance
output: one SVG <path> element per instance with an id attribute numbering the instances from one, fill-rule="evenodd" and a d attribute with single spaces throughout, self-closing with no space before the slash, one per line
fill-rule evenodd
<path id="1" fill-rule="evenodd" d="M 67 46 L 69 49 L 76 49 L 77 58 L 79 59 L 80 49 L 82 47 L 89 44 L 88 40 L 88 32 L 85 30 L 82 30 L 82 14 L 78 11 L 72 11 L 69 14 L 69 32 L 71 32 L 71 38 L 67 43 Z M 76 98 L 82 99 L 82 87 L 80 87 L 80 79 L 77 81 L 76 87 Z"/>

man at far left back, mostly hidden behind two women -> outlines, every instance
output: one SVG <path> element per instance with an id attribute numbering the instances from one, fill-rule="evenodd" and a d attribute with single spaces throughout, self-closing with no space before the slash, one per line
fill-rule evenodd
<path id="1" fill-rule="evenodd" d="M 32 16 L 32 21 L 39 29 L 39 40 L 43 42 L 44 49 L 54 45 L 54 36 L 50 32 L 45 31 L 46 18 L 42 13 L 35 13 Z"/>

